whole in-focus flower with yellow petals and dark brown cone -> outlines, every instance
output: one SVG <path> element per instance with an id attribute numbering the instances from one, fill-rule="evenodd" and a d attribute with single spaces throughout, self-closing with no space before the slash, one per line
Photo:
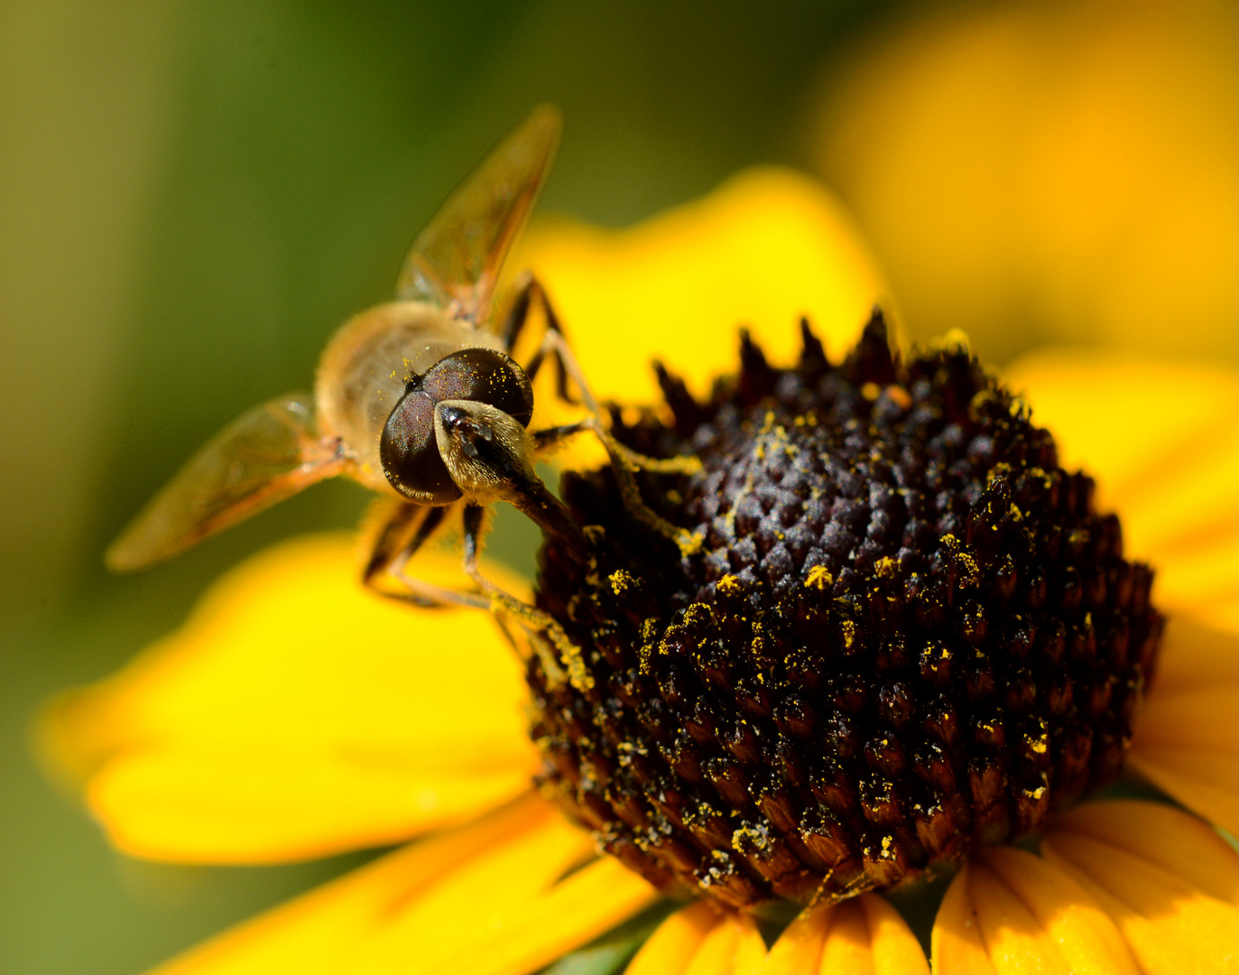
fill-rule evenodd
<path id="1" fill-rule="evenodd" d="M 519 975 L 663 897 L 688 904 L 631 973 L 1235 965 L 1239 855 L 1208 823 L 1239 829 L 1239 379 L 1046 353 L 1000 383 L 954 341 L 847 336 L 877 279 L 778 172 L 620 237 L 548 229 L 527 263 L 598 388 L 657 380 L 613 431 L 700 457 L 642 476 L 700 548 L 586 471 L 563 493 L 589 549 L 546 544 L 530 596 L 563 668 L 379 600 L 313 538 L 57 701 L 45 751 L 128 852 L 429 834 L 166 971 Z M 1196 815 L 1068 809 L 1124 766 Z M 957 868 L 930 961 L 882 893 Z M 768 947 L 778 901 L 804 909 Z"/>

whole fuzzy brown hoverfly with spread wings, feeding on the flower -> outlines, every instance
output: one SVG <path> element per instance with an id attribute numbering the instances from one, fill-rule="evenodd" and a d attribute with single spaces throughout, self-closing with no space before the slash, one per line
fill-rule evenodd
<path id="1" fill-rule="evenodd" d="M 131 571 L 162 561 L 309 484 L 343 474 L 389 499 L 363 571 L 368 585 L 392 595 L 378 582 L 395 577 L 401 597 L 413 602 L 501 607 L 546 632 L 549 618 L 482 576 L 479 536 L 487 505 L 506 501 L 544 531 L 584 544 L 533 462 L 585 430 L 606 447 L 629 509 L 691 548 L 685 531 L 644 505 L 633 478 L 636 467 L 691 463 L 644 458 L 610 436 L 538 281 L 524 275 L 507 315 L 492 316 L 503 261 L 546 178 L 561 129 L 559 110 L 544 105 L 508 134 L 418 235 L 396 282 L 398 300 L 354 316 L 331 339 L 313 395 L 279 396 L 221 431 L 112 544 L 108 566 Z M 535 304 L 545 334 L 520 365 L 512 353 Z M 587 416 L 530 431 L 532 382 L 548 359 L 558 368 L 559 395 L 574 401 L 571 380 Z M 404 571 L 456 510 L 465 571 L 478 592 L 432 586 Z"/>

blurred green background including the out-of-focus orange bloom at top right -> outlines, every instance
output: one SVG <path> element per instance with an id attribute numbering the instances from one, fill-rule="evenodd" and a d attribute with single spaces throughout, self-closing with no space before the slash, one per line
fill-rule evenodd
<path id="1" fill-rule="evenodd" d="M 35 771 L 37 702 L 223 569 L 356 522 L 320 486 L 146 575 L 104 544 L 326 337 L 534 103 L 543 206 L 624 224 L 786 162 L 867 234 L 914 336 L 1239 358 L 1225 5 L 0 0 L 0 971 L 149 966 L 351 861 L 110 854 Z M 520 567 L 533 535 L 502 518 Z"/>

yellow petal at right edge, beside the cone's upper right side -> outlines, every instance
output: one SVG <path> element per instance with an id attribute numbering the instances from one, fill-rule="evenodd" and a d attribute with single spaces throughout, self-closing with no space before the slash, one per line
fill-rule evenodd
<path id="1" fill-rule="evenodd" d="M 1239 374 L 1053 351 L 1007 370 L 1062 463 L 1098 479 L 1158 603 L 1239 622 Z"/>

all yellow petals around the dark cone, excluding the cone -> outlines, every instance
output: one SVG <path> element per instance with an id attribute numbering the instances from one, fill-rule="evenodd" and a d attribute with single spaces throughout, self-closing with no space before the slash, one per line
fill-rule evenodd
<path id="1" fill-rule="evenodd" d="M 838 207 L 778 171 L 618 234 L 544 227 L 522 260 L 549 282 L 593 382 L 626 401 L 653 399 L 655 353 L 701 389 L 730 368 L 738 322 L 787 359 L 805 313 L 838 358 L 881 295 Z M 1007 380 L 1068 465 L 1088 457 L 1178 612 L 1131 764 L 1239 830 L 1239 377 L 1043 353 Z M 429 555 L 419 574 L 453 565 Z M 530 790 L 525 701 L 489 617 L 384 602 L 357 581 L 353 543 L 320 536 L 228 574 L 181 631 L 53 701 L 38 732 L 47 764 L 136 856 L 278 862 L 415 840 L 160 971 L 523 975 L 659 897 Z M 939 911 L 932 964 L 1152 973 L 1237 956 L 1239 855 L 1187 813 L 1104 800 L 1054 819 L 1040 855 L 973 857 Z M 768 950 L 752 917 L 701 901 L 628 971 L 928 968 L 901 916 L 862 893 L 805 909 Z"/>

